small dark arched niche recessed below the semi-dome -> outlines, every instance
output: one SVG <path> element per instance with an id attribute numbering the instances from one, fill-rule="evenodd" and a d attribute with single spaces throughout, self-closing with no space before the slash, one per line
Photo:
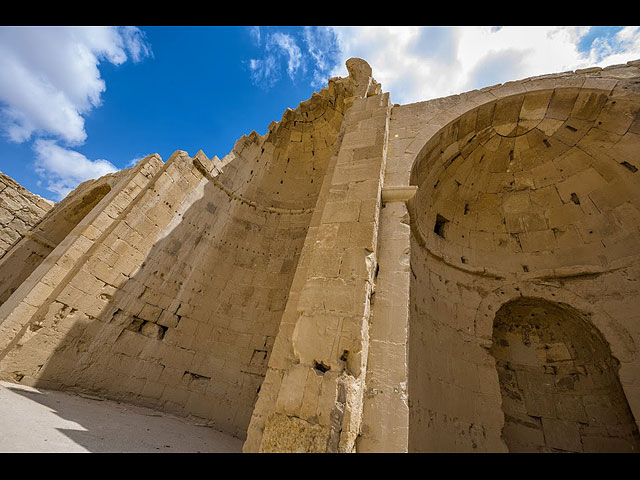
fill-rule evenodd
<path id="1" fill-rule="evenodd" d="M 511 452 L 634 452 L 638 427 L 619 362 L 573 307 L 518 297 L 496 312 L 491 353 Z"/>

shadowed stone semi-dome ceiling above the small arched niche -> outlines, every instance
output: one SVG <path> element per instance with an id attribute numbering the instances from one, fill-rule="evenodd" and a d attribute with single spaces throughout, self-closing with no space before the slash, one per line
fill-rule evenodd
<path id="1" fill-rule="evenodd" d="M 580 274 L 637 255 L 640 95 L 506 97 L 444 127 L 414 169 L 414 233 L 473 272 Z"/>

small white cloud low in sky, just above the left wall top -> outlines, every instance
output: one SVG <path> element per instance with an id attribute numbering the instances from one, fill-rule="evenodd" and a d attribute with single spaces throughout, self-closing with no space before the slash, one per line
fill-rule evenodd
<path id="1" fill-rule="evenodd" d="M 61 147 L 53 140 L 38 139 L 33 143 L 35 168 L 47 182 L 46 188 L 63 199 L 80 183 L 118 170 L 107 160 L 89 160 L 74 150 Z"/>

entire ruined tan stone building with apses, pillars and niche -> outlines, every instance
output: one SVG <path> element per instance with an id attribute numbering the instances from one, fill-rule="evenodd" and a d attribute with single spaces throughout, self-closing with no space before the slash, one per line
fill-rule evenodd
<path id="1" fill-rule="evenodd" d="M 409 105 L 347 67 L 18 234 L 4 182 L 0 378 L 246 452 L 638 451 L 640 61 Z"/>

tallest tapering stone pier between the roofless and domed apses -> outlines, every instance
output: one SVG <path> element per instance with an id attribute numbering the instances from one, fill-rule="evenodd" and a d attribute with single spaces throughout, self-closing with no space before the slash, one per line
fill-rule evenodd
<path id="1" fill-rule="evenodd" d="M 354 99 L 345 117 L 249 427 L 247 452 L 356 449 L 391 110 L 388 94 L 367 91 L 370 96 Z"/>

